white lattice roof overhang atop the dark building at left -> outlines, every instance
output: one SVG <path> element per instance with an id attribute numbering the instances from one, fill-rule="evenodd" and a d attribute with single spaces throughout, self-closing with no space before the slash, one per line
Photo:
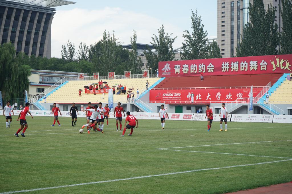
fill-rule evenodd
<path id="1" fill-rule="evenodd" d="M 73 1 L 66 1 L 66 0 L 6 0 L 6 1 L 25 3 L 29 5 L 43 6 L 43 7 L 49 7 L 49 8 L 76 3 Z"/>

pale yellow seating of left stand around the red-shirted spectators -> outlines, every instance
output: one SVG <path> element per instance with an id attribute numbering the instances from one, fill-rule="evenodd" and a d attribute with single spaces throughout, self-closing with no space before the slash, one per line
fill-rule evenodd
<path id="1" fill-rule="evenodd" d="M 159 78 L 140 78 L 140 79 L 116 79 L 116 80 L 102 80 L 108 82 L 107 84 L 112 87 L 113 85 L 122 84 L 129 89 L 133 89 L 133 93 L 136 96 L 137 89 L 139 93 L 142 94 L 146 90 L 146 80 L 148 80 L 150 86 L 153 85 Z M 61 84 L 60 87 L 54 90 L 51 94 L 47 95 L 47 103 L 96 103 L 108 102 L 108 93 L 104 94 L 85 94 L 84 86 L 89 86 L 90 84 L 97 83 L 98 80 L 84 80 L 84 81 L 69 81 L 65 84 Z M 149 87 L 150 87 L 149 86 Z M 79 89 L 82 89 L 82 95 L 79 97 Z M 117 92 L 117 90 L 116 90 Z M 44 99 L 40 100 L 41 103 L 44 103 Z M 114 102 L 126 103 L 126 95 L 114 95 Z"/>

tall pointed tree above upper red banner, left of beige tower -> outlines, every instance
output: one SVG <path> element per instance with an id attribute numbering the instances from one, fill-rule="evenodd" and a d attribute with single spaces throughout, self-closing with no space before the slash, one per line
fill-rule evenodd
<path id="1" fill-rule="evenodd" d="M 183 52 L 180 53 L 180 57 L 182 60 L 205 59 L 208 56 L 206 46 L 208 33 L 204 31 L 204 24 L 202 24 L 202 18 L 198 15 L 197 9 L 195 13 L 192 11 L 191 21 L 192 32 L 184 31 L 185 42 L 183 42 Z"/>

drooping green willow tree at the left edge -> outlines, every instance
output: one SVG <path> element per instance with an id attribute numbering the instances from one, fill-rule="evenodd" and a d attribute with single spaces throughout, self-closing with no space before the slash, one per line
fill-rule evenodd
<path id="1" fill-rule="evenodd" d="M 11 43 L 0 46 L 0 90 L 5 100 L 23 98 L 29 86 L 30 66 L 25 65 L 25 54 L 15 56 L 15 48 Z"/>

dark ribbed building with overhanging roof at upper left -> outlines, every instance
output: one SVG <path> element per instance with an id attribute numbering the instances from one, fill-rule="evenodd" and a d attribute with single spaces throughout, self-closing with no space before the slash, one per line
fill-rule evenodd
<path id="1" fill-rule="evenodd" d="M 51 24 L 56 6 L 65 0 L 0 0 L 0 41 L 13 43 L 16 53 L 51 58 Z"/>

